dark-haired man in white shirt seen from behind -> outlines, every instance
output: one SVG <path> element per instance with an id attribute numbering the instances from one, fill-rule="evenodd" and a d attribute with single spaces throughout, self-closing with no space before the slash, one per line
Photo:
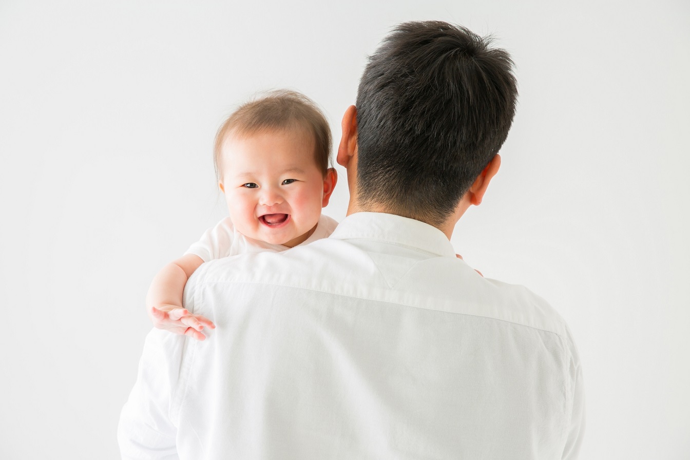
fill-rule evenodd
<path id="1" fill-rule="evenodd" d="M 564 321 L 455 257 L 500 166 L 517 90 L 503 50 L 405 23 L 364 71 L 331 238 L 201 266 L 205 341 L 155 330 L 120 421 L 126 458 L 573 459 L 584 406 Z"/>

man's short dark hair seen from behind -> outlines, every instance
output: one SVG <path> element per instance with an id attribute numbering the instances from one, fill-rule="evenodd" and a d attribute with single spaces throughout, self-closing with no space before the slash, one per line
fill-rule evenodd
<path id="1" fill-rule="evenodd" d="M 503 145 L 515 114 L 513 61 L 462 26 L 397 26 L 357 91 L 364 204 L 439 226 Z"/>

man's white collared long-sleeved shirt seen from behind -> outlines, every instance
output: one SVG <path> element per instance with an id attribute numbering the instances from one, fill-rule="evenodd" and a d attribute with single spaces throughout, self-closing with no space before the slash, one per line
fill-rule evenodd
<path id="1" fill-rule="evenodd" d="M 126 459 L 573 459 L 580 360 L 562 318 L 391 214 L 202 265 L 205 341 L 153 330 L 122 410 Z M 178 457 L 179 456 L 179 457 Z"/>

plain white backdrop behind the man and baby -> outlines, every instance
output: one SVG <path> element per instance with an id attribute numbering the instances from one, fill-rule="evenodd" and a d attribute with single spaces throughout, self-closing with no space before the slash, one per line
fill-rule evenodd
<path id="1" fill-rule="evenodd" d="M 223 117 L 293 88 L 337 141 L 366 55 L 422 19 L 515 60 L 502 168 L 453 244 L 569 322 L 581 458 L 690 458 L 690 5 L 651 3 L 0 0 L 0 458 L 119 458 L 148 283 L 224 216 Z"/>

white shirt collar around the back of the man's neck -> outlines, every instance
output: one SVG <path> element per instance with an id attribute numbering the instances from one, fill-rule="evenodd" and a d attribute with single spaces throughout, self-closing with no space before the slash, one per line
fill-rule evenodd
<path id="1" fill-rule="evenodd" d="M 441 230 L 422 221 L 384 212 L 350 214 L 339 223 L 331 238 L 368 239 L 455 257 L 453 245 Z"/>

